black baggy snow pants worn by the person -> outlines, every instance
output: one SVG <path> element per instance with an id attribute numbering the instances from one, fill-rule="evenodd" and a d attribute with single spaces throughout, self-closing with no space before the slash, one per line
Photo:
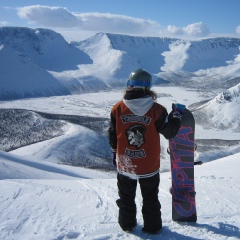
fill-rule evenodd
<path id="1" fill-rule="evenodd" d="M 119 199 L 118 222 L 123 230 L 136 225 L 137 208 L 135 204 L 137 180 L 131 179 L 120 173 L 117 175 Z M 158 199 L 159 174 L 149 178 L 138 179 L 142 198 L 142 216 L 145 231 L 158 231 L 162 228 L 161 205 Z"/>

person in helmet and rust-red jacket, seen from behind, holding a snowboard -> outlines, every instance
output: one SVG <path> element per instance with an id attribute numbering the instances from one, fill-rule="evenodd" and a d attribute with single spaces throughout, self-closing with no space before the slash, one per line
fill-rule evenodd
<path id="1" fill-rule="evenodd" d="M 183 111 L 173 104 L 166 108 L 155 102 L 157 94 L 150 90 L 151 75 L 137 69 L 127 82 L 123 100 L 113 106 L 108 129 L 112 161 L 117 166 L 119 199 L 118 222 L 124 231 L 136 226 L 137 182 L 143 198 L 142 231 L 157 234 L 162 228 L 161 204 L 158 199 L 160 182 L 160 134 L 173 138 L 180 126 Z"/>

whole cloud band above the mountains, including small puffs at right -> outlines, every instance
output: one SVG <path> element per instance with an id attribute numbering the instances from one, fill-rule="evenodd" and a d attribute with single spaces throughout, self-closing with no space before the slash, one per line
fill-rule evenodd
<path id="1" fill-rule="evenodd" d="M 193 23 L 183 28 L 169 25 L 163 28 L 153 20 L 133 18 L 111 13 L 73 13 L 63 7 L 25 6 L 17 9 L 22 19 L 27 19 L 40 26 L 48 28 L 79 29 L 85 32 L 109 32 L 139 36 L 195 36 L 203 37 L 209 34 L 206 24 Z"/>

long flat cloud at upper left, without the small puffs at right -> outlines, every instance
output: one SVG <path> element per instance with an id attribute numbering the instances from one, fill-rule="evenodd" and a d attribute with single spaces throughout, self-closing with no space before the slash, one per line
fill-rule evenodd
<path id="1" fill-rule="evenodd" d="M 118 33 L 155 33 L 160 24 L 156 21 L 132 18 L 110 13 L 71 13 L 63 7 L 26 6 L 18 8 L 20 18 L 45 27 L 80 28 L 83 31 Z"/>

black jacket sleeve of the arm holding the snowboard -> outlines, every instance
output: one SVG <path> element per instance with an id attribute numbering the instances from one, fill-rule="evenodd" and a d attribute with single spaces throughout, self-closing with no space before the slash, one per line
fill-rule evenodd
<path id="1" fill-rule="evenodd" d="M 159 133 L 166 139 L 171 139 L 176 136 L 181 126 L 181 121 L 178 118 L 173 118 L 173 111 L 168 115 L 167 110 L 164 108 L 155 125 Z"/>

